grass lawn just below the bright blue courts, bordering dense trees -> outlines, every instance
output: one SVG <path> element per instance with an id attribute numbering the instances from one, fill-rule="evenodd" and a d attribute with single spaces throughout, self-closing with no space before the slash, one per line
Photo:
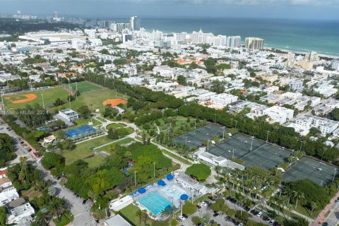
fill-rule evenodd
<path id="1" fill-rule="evenodd" d="M 74 150 L 63 150 L 61 155 L 65 157 L 66 165 L 70 165 L 76 160 L 82 160 L 85 157 L 93 155 L 94 153 L 92 148 L 112 141 L 113 140 L 107 138 L 106 136 L 101 136 L 99 138 L 94 138 L 92 140 L 77 144 Z"/>

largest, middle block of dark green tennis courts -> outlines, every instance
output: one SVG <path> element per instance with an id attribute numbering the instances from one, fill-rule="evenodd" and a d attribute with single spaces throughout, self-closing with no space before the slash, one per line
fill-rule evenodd
<path id="1" fill-rule="evenodd" d="M 227 159 L 238 158 L 244 161 L 246 167 L 258 166 L 265 169 L 286 161 L 290 155 L 287 150 L 239 133 L 216 145 L 211 145 L 208 149 L 209 153 L 216 156 Z"/>

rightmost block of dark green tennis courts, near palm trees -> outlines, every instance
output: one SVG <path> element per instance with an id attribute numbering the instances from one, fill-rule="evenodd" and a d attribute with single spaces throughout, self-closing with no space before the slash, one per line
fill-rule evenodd
<path id="1" fill-rule="evenodd" d="M 293 182 L 298 179 L 310 179 L 316 184 L 325 186 L 333 179 L 336 168 L 326 165 L 323 162 L 312 160 L 308 157 L 303 157 L 299 162 L 292 165 L 283 174 L 283 182 Z"/>

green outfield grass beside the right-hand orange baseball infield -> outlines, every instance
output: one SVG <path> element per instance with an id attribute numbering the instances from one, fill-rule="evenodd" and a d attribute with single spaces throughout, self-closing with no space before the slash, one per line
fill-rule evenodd
<path id="1" fill-rule="evenodd" d="M 95 109 L 102 109 L 104 107 L 104 105 L 102 105 L 102 102 L 104 102 L 105 100 L 115 98 L 124 98 L 124 95 L 121 93 L 117 93 L 116 97 L 114 90 L 109 90 L 107 88 L 88 93 L 82 93 L 75 101 L 71 102 L 71 109 L 74 109 L 76 111 L 79 107 L 87 105 L 91 110 L 94 111 Z M 58 109 L 64 108 L 69 108 L 69 102 L 65 103 L 64 105 L 54 107 L 52 110 L 54 112 L 57 112 Z"/>

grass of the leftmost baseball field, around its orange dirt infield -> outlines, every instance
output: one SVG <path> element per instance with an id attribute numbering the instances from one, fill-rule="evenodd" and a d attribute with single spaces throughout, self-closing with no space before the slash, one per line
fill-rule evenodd
<path id="1" fill-rule="evenodd" d="M 12 103 L 11 100 L 18 100 L 18 99 L 25 99 L 23 95 L 25 94 L 33 94 L 36 96 L 35 100 L 30 100 L 29 102 L 23 102 L 23 103 Z M 58 86 L 55 88 L 49 88 L 45 90 L 37 90 L 33 92 L 26 92 L 26 93 L 20 93 L 16 95 L 6 95 L 4 96 L 4 104 L 7 109 L 18 109 L 23 108 L 26 105 L 33 105 L 35 103 L 38 103 L 42 106 L 42 95 L 44 97 L 44 106 L 48 108 L 49 105 L 53 105 L 55 100 L 59 97 L 61 100 L 66 100 L 69 92 L 64 90 L 64 88 Z"/>

